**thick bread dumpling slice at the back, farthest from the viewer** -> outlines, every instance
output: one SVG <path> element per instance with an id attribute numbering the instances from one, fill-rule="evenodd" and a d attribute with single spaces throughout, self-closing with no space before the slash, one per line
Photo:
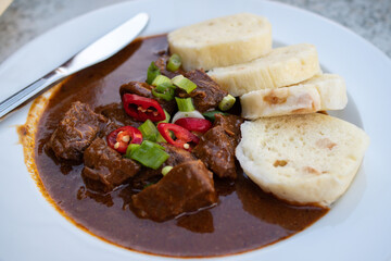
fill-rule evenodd
<path id="1" fill-rule="evenodd" d="M 171 53 L 182 59 L 186 71 L 243 63 L 272 50 L 267 18 L 239 13 L 181 27 L 168 34 Z"/>

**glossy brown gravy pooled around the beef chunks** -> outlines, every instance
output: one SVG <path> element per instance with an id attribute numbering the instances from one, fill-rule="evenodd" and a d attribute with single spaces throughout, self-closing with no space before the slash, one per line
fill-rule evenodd
<path id="1" fill-rule="evenodd" d="M 165 36 L 134 41 L 112 59 L 65 80 L 40 117 L 35 161 L 46 191 L 78 226 L 122 247 L 163 256 L 210 257 L 261 248 L 287 238 L 327 213 L 317 207 L 297 207 L 263 192 L 242 172 L 236 182 L 216 179 L 218 204 L 193 214 L 157 223 L 130 210 L 131 188 L 111 194 L 90 191 L 80 176 L 83 164 L 55 160 L 46 142 L 74 101 L 91 108 L 121 102 L 118 89 L 143 82 L 151 61 L 167 48 Z"/>

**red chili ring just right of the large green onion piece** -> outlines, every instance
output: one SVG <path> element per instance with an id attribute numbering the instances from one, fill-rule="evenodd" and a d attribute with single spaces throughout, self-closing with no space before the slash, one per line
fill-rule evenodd
<path id="1" fill-rule="evenodd" d="M 191 150 L 189 142 L 198 144 L 200 141 L 199 137 L 173 123 L 160 123 L 157 124 L 157 130 L 168 144 L 189 151 Z M 169 136 L 169 132 L 174 133 L 175 140 Z"/>

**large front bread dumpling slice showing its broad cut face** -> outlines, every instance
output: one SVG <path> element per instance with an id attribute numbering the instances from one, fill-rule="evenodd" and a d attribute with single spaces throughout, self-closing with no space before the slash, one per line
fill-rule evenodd
<path id="1" fill-rule="evenodd" d="M 241 134 L 236 157 L 264 191 L 324 207 L 348 189 L 369 145 L 361 128 L 320 113 L 245 122 Z"/>

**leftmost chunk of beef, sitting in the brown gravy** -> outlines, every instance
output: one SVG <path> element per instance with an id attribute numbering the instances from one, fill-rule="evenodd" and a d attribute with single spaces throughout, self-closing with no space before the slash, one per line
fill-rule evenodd
<path id="1" fill-rule="evenodd" d="M 48 145 L 56 158 L 80 161 L 83 152 L 106 122 L 103 115 L 94 113 L 88 104 L 76 101 L 59 123 Z"/>

